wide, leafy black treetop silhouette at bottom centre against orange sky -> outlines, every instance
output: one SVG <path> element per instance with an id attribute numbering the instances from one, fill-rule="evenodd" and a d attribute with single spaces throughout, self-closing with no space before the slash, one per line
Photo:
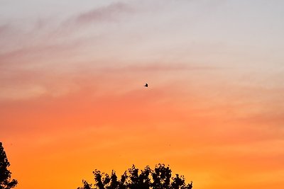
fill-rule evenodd
<path id="1" fill-rule="evenodd" d="M 83 186 L 77 189 L 191 189 L 190 184 L 185 183 L 185 177 L 175 174 L 172 177 L 172 171 L 165 164 L 158 164 L 152 170 L 146 166 L 143 170 L 139 170 L 136 166 L 132 166 L 125 171 L 119 180 L 115 171 L 111 171 L 109 176 L 107 173 L 101 173 L 97 169 L 94 173 L 94 188 L 92 184 L 83 180 Z"/>

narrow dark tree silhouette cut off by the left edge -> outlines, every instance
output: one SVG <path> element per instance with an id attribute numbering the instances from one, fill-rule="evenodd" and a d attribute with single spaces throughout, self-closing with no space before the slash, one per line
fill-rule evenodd
<path id="1" fill-rule="evenodd" d="M 18 181 L 11 180 L 11 171 L 8 170 L 10 163 L 7 159 L 2 142 L 0 142 L 0 189 L 14 188 Z"/>

